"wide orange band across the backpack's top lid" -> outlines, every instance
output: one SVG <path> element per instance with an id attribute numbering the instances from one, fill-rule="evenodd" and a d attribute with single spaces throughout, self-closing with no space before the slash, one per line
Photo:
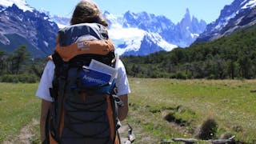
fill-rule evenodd
<path id="1" fill-rule="evenodd" d="M 79 54 L 100 54 L 106 55 L 114 51 L 113 43 L 109 40 L 90 40 L 71 44 L 70 46 L 55 47 L 54 52 L 58 53 L 64 62 Z"/>

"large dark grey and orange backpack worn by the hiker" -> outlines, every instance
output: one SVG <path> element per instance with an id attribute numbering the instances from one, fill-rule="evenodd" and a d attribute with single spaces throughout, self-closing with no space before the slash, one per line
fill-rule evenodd
<path id="1" fill-rule="evenodd" d="M 55 69 L 46 143 L 120 143 L 117 130 L 120 101 L 115 96 L 115 82 L 108 82 L 109 74 L 88 69 L 92 61 L 101 66 L 115 66 L 114 46 L 106 27 L 97 23 L 67 26 L 58 31 L 56 42 L 50 56 Z"/>

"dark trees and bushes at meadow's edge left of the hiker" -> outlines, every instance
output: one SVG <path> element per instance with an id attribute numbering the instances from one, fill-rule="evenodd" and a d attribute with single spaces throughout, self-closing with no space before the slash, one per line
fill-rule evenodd
<path id="1" fill-rule="evenodd" d="M 45 63 L 42 58 L 31 58 L 25 45 L 10 54 L 0 50 L 0 82 L 38 82 Z"/>

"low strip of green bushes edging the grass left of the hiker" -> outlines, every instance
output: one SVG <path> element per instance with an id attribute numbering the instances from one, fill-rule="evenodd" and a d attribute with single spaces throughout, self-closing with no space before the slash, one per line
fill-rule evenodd
<path id="1" fill-rule="evenodd" d="M 0 77 L 0 82 L 35 83 L 38 82 L 38 77 L 34 74 L 5 74 Z"/>

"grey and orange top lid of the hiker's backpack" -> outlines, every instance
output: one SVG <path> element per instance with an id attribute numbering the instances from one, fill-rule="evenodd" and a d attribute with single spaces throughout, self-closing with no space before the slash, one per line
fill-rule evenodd
<path id="1" fill-rule="evenodd" d="M 58 31 L 57 46 L 54 49 L 64 62 L 79 54 L 106 55 L 114 52 L 105 26 L 98 23 L 81 23 L 66 26 Z"/>

